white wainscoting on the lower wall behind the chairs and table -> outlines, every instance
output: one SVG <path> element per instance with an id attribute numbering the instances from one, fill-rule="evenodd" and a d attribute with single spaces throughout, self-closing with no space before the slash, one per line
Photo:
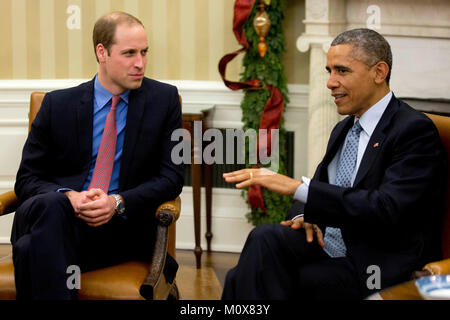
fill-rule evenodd
<path id="1" fill-rule="evenodd" d="M 28 108 L 32 91 L 51 91 L 68 88 L 89 79 L 65 80 L 0 80 L 0 192 L 11 190 L 21 158 L 28 130 Z M 178 87 L 183 104 L 209 104 L 214 109 L 207 117 L 207 125 L 215 128 L 242 128 L 240 103 L 242 92 L 226 88 L 215 81 L 165 81 Z M 285 127 L 295 133 L 294 175 L 306 174 L 306 146 L 308 132 L 308 86 L 289 85 L 290 103 L 285 113 Z M 204 190 L 203 190 L 204 191 Z M 177 242 L 180 249 L 193 249 L 194 227 L 192 188 L 181 194 L 182 213 L 177 222 Z M 212 198 L 212 250 L 240 252 L 248 232 L 248 212 L 241 192 L 214 188 Z M 206 249 L 205 196 L 202 194 L 202 248 Z M 9 243 L 13 214 L 0 217 L 0 243 Z"/>

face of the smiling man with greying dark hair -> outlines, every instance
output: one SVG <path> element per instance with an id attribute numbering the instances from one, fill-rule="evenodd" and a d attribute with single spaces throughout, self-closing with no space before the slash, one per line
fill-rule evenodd
<path id="1" fill-rule="evenodd" d="M 326 69 L 330 74 L 328 89 L 341 115 L 362 114 L 378 101 L 376 72 L 352 54 L 351 44 L 330 47 Z"/>

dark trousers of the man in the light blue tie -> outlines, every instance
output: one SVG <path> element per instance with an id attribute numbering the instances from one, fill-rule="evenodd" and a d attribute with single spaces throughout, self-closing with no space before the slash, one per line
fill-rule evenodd
<path id="1" fill-rule="evenodd" d="M 330 258 L 315 239 L 306 242 L 304 229 L 277 224 L 250 232 L 222 294 L 224 300 L 361 298 L 349 259 Z"/>

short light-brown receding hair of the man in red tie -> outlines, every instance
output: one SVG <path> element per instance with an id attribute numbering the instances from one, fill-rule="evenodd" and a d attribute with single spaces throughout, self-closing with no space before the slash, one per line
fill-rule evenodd
<path id="1" fill-rule="evenodd" d="M 94 31 L 92 32 L 92 40 L 94 42 L 94 53 L 97 62 L 98 62 L 97 45 L 99 43 L 103 44 L 109 55 L 110 54 L 109 50 L 111 49 L 111 46 L 115 43 L 116 27 L 122 23 L 128 23 L 130 25 L 137 23 L 140 24 L 142 27 L 144 27 L 144 25 L 138 18 L 132 16 L 131 14 L 121 11 L 108 13 L 102 16 L 100 19 L 98 19 L 97 22 L 95 23 Z"/>

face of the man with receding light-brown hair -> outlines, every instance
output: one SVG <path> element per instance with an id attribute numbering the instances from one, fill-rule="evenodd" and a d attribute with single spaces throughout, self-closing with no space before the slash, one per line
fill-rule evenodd
<path id="1" fill-rule="evenodd" d="M 100 51 L 100 78 L 107 90 L 119 94 L 141 86 L 148 51 L 147 35 L 141 25 L 119 24 L 109 54 L 106 49 Z"/>

